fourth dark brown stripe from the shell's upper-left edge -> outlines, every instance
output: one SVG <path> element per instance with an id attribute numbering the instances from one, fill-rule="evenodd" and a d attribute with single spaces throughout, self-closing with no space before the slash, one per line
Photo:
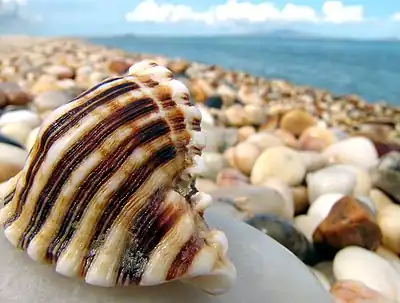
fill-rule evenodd
<path id="1" fill-rule="evenodd" d="M 117 216 L 121 215 L 121 210 L 123 209 L 123 207 L 132 198 L 136 191 L 148 180 L 154 170 L 167 164 L 175 157 L 175 147 L 170 144 L 166 145 L 155 151 L 152 157 L 150 157 L 146 163 L 143 163 L 138 169 L 132 172 L 131 176 L 124 182 L 124 184 L 119 187 L 119 190 L 112 195 L 112 197 L 110 198 L 110 202 L 104 210 L 101 219 L 97 222 L 96 233 L 92 237 L 92 242 L 88 249 L 89 252 L 96 252 L 96 248 L 102 245 L 102 242 L 105 239 L 105 234 L 111 229 Z M 174 178 L 175 176 L 171 176 L 171 183 Z M 157 190 L 164 191 L 165 188 L 159 188 Z M 151 204 L 151 201 L 149 201 L 148 204 Z M 148 205 L 145 206 L 145 209 L 148 208 Z M 135 223 L 132 225 L 132 232 L 135 232 L 136 229 L 141 228 L 141 226 L 137 226 L 137 224 L 139 224 L 140 222 L 141 221 L 138 220 L 135 221 Z M 142 227 L 146 228 L 146 226 Z M 149 232 L 149 234 L 151 235 L 152 233 Z M 137 247 L 137 249 L 137 252 L 139 253 L 141 248 Z M 86 275 L 94 257 L 95 253 L 88 255 L 88 257 L 86 258 L 82 271 L 83 276 Z"/>

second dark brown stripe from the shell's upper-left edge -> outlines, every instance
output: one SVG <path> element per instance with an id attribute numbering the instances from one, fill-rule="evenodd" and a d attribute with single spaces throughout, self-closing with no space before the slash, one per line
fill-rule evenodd
<path id="1" fill-rule="evenodd" d="M 134 123 L 135 119 L 149 115 L 157 109 L 157 105 L 150 98 L 135 100 L 126 106 L 111 111 L 112 114 L 75 142 L 63 155 L 62 161 L 58 162 L 53 168 L 47 184 L 36 201 L 29 225 L 20 238 L 19 247 L 26 249 L 33 237 L 40 231 L 62 187 L 83 159 L 93 153 L 119 127 L 127 123 Z"/>

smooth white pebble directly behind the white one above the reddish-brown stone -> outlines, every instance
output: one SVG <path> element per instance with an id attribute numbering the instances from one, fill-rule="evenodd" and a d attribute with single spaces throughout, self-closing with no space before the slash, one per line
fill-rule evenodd
<path id="1" fill-rule="evenodd" d="M 365 137 L 343 139 L 324 149 L 322 154 L 331 164 L 353 164 L 365 169 L 378 164 L 378 152 L 372 141 Z"/>

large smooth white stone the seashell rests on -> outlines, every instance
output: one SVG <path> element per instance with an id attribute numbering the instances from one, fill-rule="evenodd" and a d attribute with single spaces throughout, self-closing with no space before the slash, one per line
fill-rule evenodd
<path id="1" fill-rule="evenodd" d="M 331 296 L 294 255 L 240 221 L 208 212 L 211 226 L 223 230 L 236 265 L 235 287 L 210 296 L 191 285 L 99 288 L 63 277 L 50 266 L 16 250 L 0 231 L 1 303 L 332 303 Z"/>

